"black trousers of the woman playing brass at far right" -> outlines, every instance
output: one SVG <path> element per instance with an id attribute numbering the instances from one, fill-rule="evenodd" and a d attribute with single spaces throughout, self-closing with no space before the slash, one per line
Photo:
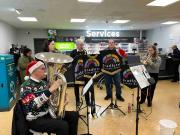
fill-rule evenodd
<path id="1" fill-rule="evenodd" d="M 146 88 L 141 89 L 141 101 L 140 102 L 145 102 L 146 97 L 147 97 L 148 103 L 151 103 L 153 100 L 154 90 L 155 90 L 156 84 L 158 82 L 158 73 L 150 73 L 149 75 L 152 78 L 154 78 L 155 83 Z"/>

